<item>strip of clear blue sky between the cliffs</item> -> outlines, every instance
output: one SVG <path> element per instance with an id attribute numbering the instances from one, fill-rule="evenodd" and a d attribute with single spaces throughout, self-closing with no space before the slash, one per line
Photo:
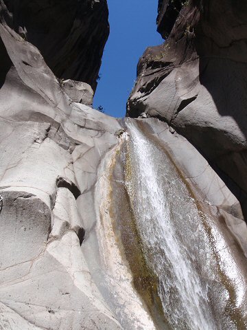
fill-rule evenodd
<path id="1" fill-rule="evenodd" d="M 102 58 L 93 107 L 124 117 L 137 76 L 137 63 L 148 46 L 160 45 L 156 32 L 157 0 L 108 0 L 110 36 Z"/>

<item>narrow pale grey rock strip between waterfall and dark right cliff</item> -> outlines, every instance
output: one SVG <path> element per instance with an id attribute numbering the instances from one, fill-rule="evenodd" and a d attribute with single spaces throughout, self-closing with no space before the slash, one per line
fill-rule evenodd
<path id="1" fill-rule="evenodd" d="M 227 188 L 202 155 L 189 141 L 178 134 L 168 124 L 154 118 L 144 121 L 148 133 L 157 136 L 165 144 L 167 151 L 174 157 L 176 165 L 182 171 L 196 197 L 209 207 L 216 206 L 229 220 L 229 227 L 239 240 L 247 257 L 247 229 L 244 223 L 242 208 L 237 198 Z M 237 220 L 238 219 L 238 220 Z M 237 225 L 239 223 L 239 226 Z M 243 236 L 242 236 L 243 235 Z"/>

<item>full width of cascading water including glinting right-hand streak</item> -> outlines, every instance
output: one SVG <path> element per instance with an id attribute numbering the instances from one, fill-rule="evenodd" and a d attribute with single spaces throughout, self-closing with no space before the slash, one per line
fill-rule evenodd
<path id="1" fill-rule="evenodd" d="M 126 190 L 168 329 L 246 329 L 244 279 L 224 238 L 162 146 L 136 122 L 126 126 Z"/>

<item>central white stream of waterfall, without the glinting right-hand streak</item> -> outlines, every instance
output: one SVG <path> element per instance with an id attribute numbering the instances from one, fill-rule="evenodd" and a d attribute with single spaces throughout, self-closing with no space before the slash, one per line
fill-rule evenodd
<path id="1" fill-rule="evenodd" d="M 126 182 L 146 258 L 159 278 L 159 296 L 172 329 L 211 330 L 215 325 L 207 283 L 200 279 L 191 251 L 207 236 L 200 214 L 176 169 L 161 149 L 132 122 L 127 123 L 132 179 Z M 194 249 L 195 250 L 195 249 Z M 203 262 L 203 261 L 202 261 Z"/>

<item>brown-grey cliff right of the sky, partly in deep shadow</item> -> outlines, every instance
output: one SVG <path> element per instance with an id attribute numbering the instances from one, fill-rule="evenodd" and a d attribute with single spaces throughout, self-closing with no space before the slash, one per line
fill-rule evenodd
<path id="1" fill-rule="evenodd" d="M 140 58 L 127 114 L 158 117 L 207 157 L 247 214 L 246 1 L 158 2 L 167 38 Z"/>

